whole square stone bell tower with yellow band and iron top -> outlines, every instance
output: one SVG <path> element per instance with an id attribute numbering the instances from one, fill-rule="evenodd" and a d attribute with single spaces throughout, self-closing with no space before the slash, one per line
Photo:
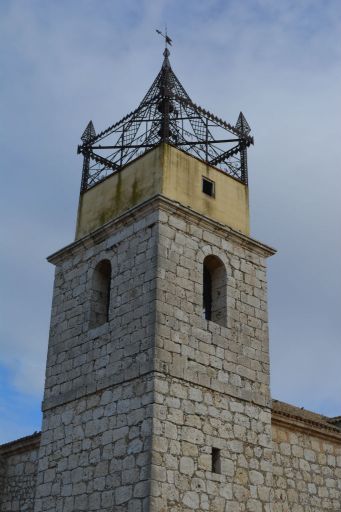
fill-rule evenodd
<path id="1" fill-rule="evenodd" d="M 269 511 L 269 247 L 250 238 L 250 127 L 162 68 L 82 136 L 56 266 L 35 512 Z"/>

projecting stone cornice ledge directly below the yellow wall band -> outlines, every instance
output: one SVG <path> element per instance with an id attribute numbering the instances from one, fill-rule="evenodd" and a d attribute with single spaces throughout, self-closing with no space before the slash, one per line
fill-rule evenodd
<path id="1" fill-rule="evenodd" d="M 263 244 L 262 242 L 202 215 L 191 208 L 172 201 L 162 194 L 157 194 L 145 202 L 124 212 L 119 217 L 108 221 L 106 224 L 103 224 L 88 235 L 85 235 L 79 240 L 65 246 L 63 249 L 51 254 L 48 256 L 47 261 L 53 265 L 58 265 L 71 256 L 75 256 L 84 251 L 84 249 L 89 249 L 103 242 L 108 236 L 114 234 L 118 229 L 139 221 L 142 217 L 146 219 L 148 215 L 158 213 L 162 210 L 169 213 L 176 213 L 180 217 L 191 220 L 206 229 L 213 228 L 215 233 L 218 232 L 220 235 L 225 236 L 226 239 L 239 243 L 245 249 L 251 249 L 259 256 L 269 257 L 273 256 L 277 252 L 276 249 L 269 245 Z M 158 216 L 150 219 L 151 223 L 157 222 L 158 220 Z"/>

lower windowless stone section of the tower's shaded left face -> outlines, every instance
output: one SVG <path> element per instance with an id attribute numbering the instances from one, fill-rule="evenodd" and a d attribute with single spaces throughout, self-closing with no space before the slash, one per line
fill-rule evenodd
<path id="1" fill-rule="evenodd" d="M 147 512 L 152 379 L 46 411 L 35 512 Z"/>

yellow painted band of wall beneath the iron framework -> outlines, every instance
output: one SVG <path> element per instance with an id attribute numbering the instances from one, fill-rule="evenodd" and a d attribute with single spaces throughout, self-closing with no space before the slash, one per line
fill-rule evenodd
<path id="1" fill-rule="evenodd" d="M 202 192 L 202 177 L 215 197 Z M 161 144 L 80 196 L 76 239 L 148 198 L 162 194 L 248 235 L 248 188 L 204 162 Z"/>

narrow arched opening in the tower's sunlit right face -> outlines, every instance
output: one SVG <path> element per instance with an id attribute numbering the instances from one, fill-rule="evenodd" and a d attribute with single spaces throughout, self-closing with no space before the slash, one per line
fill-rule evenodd
<path id="1" fill-rule="evenodd" d="M 226 326 L 226 269 L 217 256 L 206 256 L 203 265 L 203 310 L 206 320 Z"/>

